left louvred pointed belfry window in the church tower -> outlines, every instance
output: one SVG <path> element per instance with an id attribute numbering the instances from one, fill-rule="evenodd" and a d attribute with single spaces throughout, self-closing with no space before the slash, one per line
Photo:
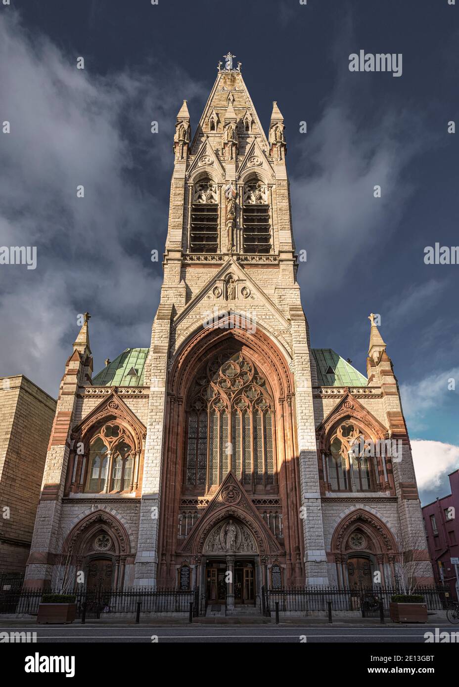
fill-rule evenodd
<path id="1" fill-rule="evenodd" d="M 216 253 L 219 247 L 219 203 L 216 184 L 203 179 L 194 184 L 191 199 L 190 251 Z"/>

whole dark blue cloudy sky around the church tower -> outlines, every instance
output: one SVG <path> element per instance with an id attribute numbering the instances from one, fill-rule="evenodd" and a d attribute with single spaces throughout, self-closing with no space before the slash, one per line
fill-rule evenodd
<path id="1" fill-rule="evenodd" d="M 458 134 L 447 133 L 449 120 L 459 122 L 459 3 L 13 5 L 0 5 L 8 38 L 0 118 L 19 121 L 21 111 L 30 136 L 21 140 L 16 126 L 16 138 L 1 142 L 14 192 L 3 204 L 0 243 L 33 236 L 43 258 L 20 279 L 12 267 L 0 275 L 0 374 L 24 372 L 56 396 L 76 313 L 87 309 L 95 372 L 105 357 L 149 345 L 161 280 L 161 265 L 149 256 L 153 248 L 162 253 L 166 238 L 175 115 L 187 98 L 196 126 L 230 49 L 243 63 L 265 130 L 273 100 L 286 122 L 295 242 L 308 251 L 298 278 L 312 345 L 350 357 L 364 373 L 367 316 L 380 313 L 412 438 L 458 447 L 459 391 L 448 390 L 448 380 L 459 389 L 459 265 L 425 265 L 423 256 L 437 241 L 459 244 Z M 359 49 L 401 53 L 402 76 L 351 73 L 348 56 Z M 85 58 L 85 74 L 74 69 L 77 56 Z M 81 93 L 75 79 L 84 81 Z M 16 98 L 19 84 L 24 93 Z M 54 116 L 47 128 L 43 117 Z M 150 120 L 159 122 L 155 136 Z M 303 120 L 307 134 L 299 131 Z M 83 143 L 73 140 L 80 130 Z M 51 183 L 46 165 L 54 159 L 54 169 L 65 171 Z M 59 177 L 69 185 L 86 180 L 86 215 Z M 372 196 L 376 184 L 381 199 Z M 27 215 L 32 188 L 40 196 Z M 34 336 L 26 332 L 38 308 L 32 293 L 43 307 L 31 324 Z M 5 305 L 7 297 L 14 306 Z M 458 466 L 451 460 L 444 473 Z"/>

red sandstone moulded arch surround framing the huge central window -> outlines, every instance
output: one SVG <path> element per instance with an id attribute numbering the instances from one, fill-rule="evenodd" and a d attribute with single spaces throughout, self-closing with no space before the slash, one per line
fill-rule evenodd
<path id="1" fill-rule="evenodd" d="M 176 583 L 179 552 L 179 508 L 183 495 L 183 471 L 186 455 L 186 404 L 196 375 L 206 363 L 225 352 L 241 352 L 265 376 L 273 399 L 275 425 L 278 502 L 282 507 L 285 550 L 282 563 L 286 565 L 286 582 L 304 583 L 304 539 L 298 512 L 300 509 L 300 479 L 298 444 L 296 440 L 295 399 L 293 379 L 284 354 L 260 326 L 256 335 L 233 328 L 200 328 L 185 341 L 177 354 L 168 376 L 166 417 L 169 418 L 164 441 L 159 521 L 159 584 Z M 203 504 L 212 501 L 212 493 L 194 494 Z M 205 513 L 205 510 L 203 510 Z M 203 517 L 201 515 L 201 517 Z M 197 524 L 194 524 L 194 528 Z M 203 551 L 196 552 L 201 556 Z"/>

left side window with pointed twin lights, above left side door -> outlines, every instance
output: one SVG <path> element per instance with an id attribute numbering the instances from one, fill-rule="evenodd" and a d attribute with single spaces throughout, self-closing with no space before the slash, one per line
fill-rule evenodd
<path id="1" fill-rule="evenodd" d="M 89 444 L 84 491 L 132 491 L 134 453 L 131 437 L 120 425 L 104 425 Z"/>

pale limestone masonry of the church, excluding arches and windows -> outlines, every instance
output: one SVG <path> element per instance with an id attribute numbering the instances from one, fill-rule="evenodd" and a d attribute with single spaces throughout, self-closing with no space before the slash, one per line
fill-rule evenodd
<path id="1" fill-rule="evenodd" d="M 236 142 L 228 135 L 231 123 L 236 124 Z M 298 458 L 300 484 L 296 486 L 300 493 L 298 520 L 304 544 L 301 563 L 305 583 L 339 583 L 331 551 L 333 535 L 342 521 L 357 511 L 376 518 L 392 537 L 398 531 L 416 535 L 420 541 L 418 548 L 427 548 L 399 389 L 392 363 L 385 353 L 385 343 L 373 322 L 368 385 L 356 389 L 324 387 L 317 381 L 321 377 L 311 351 L 309 325 L 296 280 L 298 264 L 291 226 L 286 150 L 283 117 L 276 102 L 267 137 L 240 69 L 219 69 L 194 138 L 186 101 L 183 103 L 177 115 L 174 139 L 164 282 L 153 322 L 143 387 L 93 385 L 85 322 L 60 386 L 43 477 L 43 496 L 27 568 L 30 586 L 51 583 L 59 542 L 93 515 L 113 517 L 126 532 L 130 555 L 124 585 L 156 584 L 161 557 L 159 513 L 168 486 L 164 484 L 163 467 L 170 421 L 166 417 L 170 373 L 191 337 L 203 330 L 209 313 L 236 313 L 246 317 L 247 327 L 254 326 L 255 340 L 257 333 L 267 337 L 293 374 L 293 393 L 287 394 L 290 397 L 282 399 L 282 403 L 284 408 L 293 408 L 295 412 L 293 444 Z M 269 205 L 271 239 L 267 254 L 245 254 L 243 250 L 245 227 L 241 197 L 245 183 L 254 174 L 264 187 Z M 191 245 L 192 199 L 196 184 L 202 179 L 210 179 L 214 185 L 218 205 L 214 254 L 198 254 Z M 236 191 L 234 215 L 225 196 L 228 188 L 229 194 Z M 235 284 L 231 298 L 227 292 L 229 275 Z M 75 449 L 72 429 L 97 412 L 104 398 L 113 391 L 146 427 L 142 490 L 122 495 L 70 493 L 63 497 L 67 461 L 70 451 Z M 402 460 L 392 464 L 394 493 L 324 493 L 317 432 L 320 433 L 322 423 L 331 414 L 340 412 L 344 398 L 348 399 L 348 407 L 358 406 L 362 416 L 367 414 L 372 423 L 379 423 L 384 436 L 403 437 Z M 178 403 L 182 402 L 183 399 L 178 399 Z M 390 579 L 390 564 L 383 565 L 385 577 Z M 425 577 L 431 572 L 426 564 Z"/>

